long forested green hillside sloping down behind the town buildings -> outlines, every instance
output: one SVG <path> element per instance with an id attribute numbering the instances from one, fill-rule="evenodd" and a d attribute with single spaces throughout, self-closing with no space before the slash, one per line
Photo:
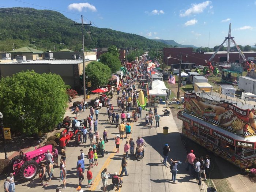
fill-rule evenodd
<path id="1" fill-rule="evenodd" d="M 14 13 L 15 12 L 15 13 Z M 81 26 L 63 14 L 51 10 L 34 8 L 1 8 L 0 9 L 0 52 L 22 46 L 35 46 L 40 50 L 60 50 L 82 48 Z M 118 48 L 138 47 L 139 49 L 162 49 L 165 44 L 147 39 L 140 35 L 129 34 L 111 29 L 85 26 L 84 44 L 87 49 L 95 47 Z"/>

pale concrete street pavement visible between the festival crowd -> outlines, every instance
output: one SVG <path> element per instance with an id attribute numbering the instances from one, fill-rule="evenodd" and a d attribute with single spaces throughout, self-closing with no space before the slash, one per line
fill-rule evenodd
<path id="1" fill-rule="evenodd" d="M 112 99 L 112 103 L 117 109 L 116 106 L 116 98 L 114 95 Z M 81 101 L 82 97 L 78 97 L 74 99 L 74 101 Z M 162 110 L 165 109 L 165 105 L 161 105 L 158 108 L 158 113 L 163 114 Z M 80 114 L 78 119 L 82 119 L 87 117 L 89 114 L 89 109 L 86 109 L 85 112 Z M 185 163 L 181 164 L 178 167 L 177 173 L 177 184 L 173 184 L 171 181 L 172 174 L 170 173 L 169 163 L 167 166 L 162 164 L 162 148 L 165 143 L 168 143 L 171 149 L 169 153 L 169 157 L 173 159 L 180 160 L 182 162 L 185 161 L 186 152 L 184 146 L 181 143 L 180 133 L 178 133 L 178 129 L 173 120 L 172 113 L 170 113 L 169 117 L 161 117 L 160 127 L 149 129 L 149 126 L 144 125 L 144 116 L 146 111 L 143 110 L 142 117 L 139 118 L 139 121 L 136 123 L 131 123 L 132 134 L 130 137 L 136 141 L 137 137 L 140 136 L 145 140 L 145 157 L 141 161 L 133 161 L 134 157 L 128 159 L 127 171 L 129 176 L 123 177 L 123 187 L 119 189 L 119 191 L 123 192 L 148 192 L 148 191 L 177 191 L 177 192 L 190 192 L 190 191 L 200 191 L 199 186 L 196 183 L 195 179 L 192 179 L 191 176 L 187 174 L 185 171 Z M 74 117 L 71 114 L 70 110 L 67 111 L 66 115 Z M 98 158 L 99 165 L 94 166 L 91 171 L 93 172 L 93 181 L 94 185 L 89 188 L 85 188 L 87 185 L 87 179 L 83 181 L 83 189 L 85 191 L 102 191 L 102 182 L 100 178 L 100 173 L 104 168 L 108 169 L 108 172 L 113 174 L 114 172 L 121 172 L 121 159 L 123 156 L 123 148 L 125 144 L 125 140 L 121 140 L 120 142 L 120 153 L 115 153 L 116 148 L 114 147 L 114 136 L 117 136 L 119 131 L 113 125 L 109 123 L 107 120 L 106 108 L 100 109 L 99 114 L 99 124 L 98 130 L 100 133 L 100 137 L 103 137 L 103 129 L 106 128 L 108 131 L 108 139 L 109 142 L 106 143 L 105 150 L 106 154 L 104 158 Z M 154 125 L 154 124 L 153 124 Z M 168 135 L 163 135 L 163 126 L 169 127 Z M 55 191 L 56 188 L 60 188 L 61 191 L 74 192 L 75 188 L 78 186 L 78 178 L 76 176 L 76 161 L 77 156 L 80 155 L 80 149 L 84 150 L 84 154 L 87 154 L 89 151 L 89 144 L 80 144 L 80 146 L 76 146 L 75 141 L 71 141 L 66 147 L 66 155 L 67 155 L 67 188 L 62 189 L 63 184 L 58 180 L 59 177 L 59 168 L 54 169 L 54 176 L 57 178 L 53 181 L 49 182 L 47 186 L 42 186 L 39 182 L 38 176 L 34 178 L 31 182 L 22 182 L 16 181 L 16 191 Z M 33 150 L 31 148 L 31 150 Z M 169 161 L 169 160 L 168 160 Z M 85 161 L 86 166 L 89 165 L 88 159 Z M 86 178 L 86 173 L 85 173 Z M 3 185 L 4 180 L 1 181 L 1 185 Z M 108 180 L 109 184 L 111 184 L 111 179 Z M 111 186 L 108 188 L 111 189 Z M 204 186 L 204 190 L 206 190 L 206 186 Z"/>

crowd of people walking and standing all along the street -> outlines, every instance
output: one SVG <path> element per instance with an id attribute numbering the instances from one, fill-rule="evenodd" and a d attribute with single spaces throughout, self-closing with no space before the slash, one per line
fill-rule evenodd
<path id="1" fill-rule="evenodd" d="M 142 107 L 138 106 L 136 99 L 139 97 L 139 93 L 136 90 L 136 86 L 140 86 L 141 88 L 145 88 L 144 80 L 148 80 L 148 72 L 146 65 L 141 62 L 135 62 L 132 65 L 131 69 L 128 69 L 127 76 L 124 79 L 120 79 L 120 84 L 117 85 L 117 108 L 114 108 L 113 102 L 113 90 L 110 90 L 112 94 L 110 94 L 111 98 L 104 99 L 106 103 L 106 114 L 107 119 L 106 122 L 118 128 L 119 135 L 114 136 L 114 145 L 116 147 L 116 153 L 120 153 L 119 148 L 123 148 L 121 153 L 123 153 L 123 158 L 121 160 L 121 172 L 118 176 L 117 172 L 114 173 L 112 178 L 116 178 L 118 182 L 123 177 L 128 176 L 127 166 L 128 159 L 133 159 L 140 161 L 144 157 L 144 140 L 138 136 L 138 138 L 133 140 L 132 138 L 132 123 L 136 123 L 139 118 L 144 118 L 145 126 L 148 128 L 153 128 L 153 122 L 155 121 L 155 127 L 159 127 L 159 121 L 161 118 L 157 113 L 157 108 L 151 108 L 146 113 L 145 117 L 142 117 Z M 71 99 L 69 98 L 69 102 L 71 104 Z M 76 106 L 74 113 L 76 113 L 76 117 L 72 121 L 72 128 L 75 130 L 75 125 L 78 122 L 77 117 L 79 117 L 79 113 L 82 113 L 82 109 L 85 109 L 85 103 L 80 103 Z M 135 108 L 131 111 L 131 108 Z M 83 110 L 85 111 L 85 110 Z M 86 112 L 86 111 L 85 111 Z M 102 109 L 94 109 L 93 107 L 89 110 L 89 115 L 84 119 L 84 127 L 82 128 L 82 143 L 87 144 L 87 136 L 90 140 L 89 143 L 89 152 L 87 155 L 83 153 L 83 149 L 80 150 L 80 154 L 78 155 L 78 161 L 74 166 L 76 167 L 76 176 L 78 177 L 78 188 L 77 191 L 82 192 L 82 184 L 84 181 L 84 172 L 86 171 L 86 178 L 88 180 L 87 187 L 90 188 L 93 185 L 93 173 L 91 169 L 94 166 L 98 166 L 100 161 L 98 158 L 104 157 L 105 151 L 105 143 L 109 142 L 107 129 L 98 130 L 98 118 L 99 115 L 103 114 Z M 87 129 L 88 128 L 88 129 Z M 101 136 L 102 134 L 102 136 Z M 124 140 L 125 142 L 123 146 L 120 146 L 120 141 Z M 170 151 L 170 147 L 168 144 L 165 144 L 163 148 L 163 164 L 166 165 L 168 153 Z M 130 152 L 130 155 L 129 155 Z M 58 159 L 60 156 L 60 166 L 58 166 Z M 64 149 L 61 149 L 60 154 L 58 154 L 58 150 L 53 148 L 52 153 L 48 152 L 46 154 L 46 165 L 44 163 L 41 164 L 41 173 L 39 174 L 41 178 L 42 185 L 48 185 L 49 182 L 54 178 L 53 168 L 60 169 L 59 179 L 63 182 L 63 188 L 66 188 L 66 178 L 67 178 L 67 165 L 66 165 L 66 153 Z M 89 163 L 85 162 L 85 158 L 88 159 Z M 54 159 L 54 164 L 52 159 Z M 170 169 L 172 171 L 172 181 L 176 182 L 176 174 L 178 171 L 178 165 L 181 163 L 176 159 L 170 159 L 171 166 Z M 199 180 L 199 185 L 201 184 L 201 173 L 204 175 L 204 179 L 206 180 L 206 176 L 208 173 L 210 158 L 206 155 L 204 159 L 201 157 L 200 159 L 195 158 L 193 154 L 193 150 L 191 153 L 187 155 L 188 167 L 191 167 L 191 173 Z M 103 163 L 102 163 L 103 164 Z M 101 172 L 101 180 L 103 184 L 103 192 L 106 192 L 106 188 L 108 187 L 108 178 L 110 173 L 108 169 L 105 168 Z M 5 191 L 7 192 L 15 192 L 15 185 L 13 177 L 7 177 L 5 181 Z M 45 184 L 44 184 L 45 183 Z M 9 191 L 8 191 L 9 190 Z M 57 191 L 58 190 L 58 191 Z M 56 192 L 59 192 L 57 189 Z"/>

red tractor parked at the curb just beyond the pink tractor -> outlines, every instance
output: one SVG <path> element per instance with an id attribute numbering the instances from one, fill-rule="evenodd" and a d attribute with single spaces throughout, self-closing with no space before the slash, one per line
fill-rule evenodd
<path id="1" fill-rule="evenodd" d="M 75 138 L 76 144 L 81 144 L 82 142 L 82 132 L 80 131 L 80 121 L 76 122 L 75 124 L 75 130 L 74 128 L 66 128 L 64 129 L 60 134 L 60 147 L 66 148 L 67 143 L 70 140 L 73 140 Z"/>

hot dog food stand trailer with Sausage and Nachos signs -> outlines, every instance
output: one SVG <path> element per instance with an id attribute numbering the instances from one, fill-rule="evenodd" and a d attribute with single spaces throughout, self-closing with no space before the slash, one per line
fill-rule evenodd
<path id="1" fill-rule="evenodd" d="M 251 166 L 256 161 L 255 102 L 209 95 L 185 92 L 184 110 L 177 114 L 182 135 L 240 168 Z"/>

